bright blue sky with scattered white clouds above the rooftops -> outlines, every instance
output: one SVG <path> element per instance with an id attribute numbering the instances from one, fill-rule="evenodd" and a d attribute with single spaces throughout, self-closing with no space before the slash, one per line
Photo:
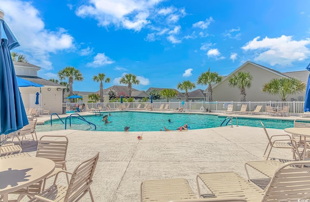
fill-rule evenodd
<path id="1" fill-rule="evenodd" d="M 97 91 L 94 75 L 120 85 L 126 73 L 140 85 L 176 88 L 216 71 L 226 76 L 246 61 L 280 72 L 310 62 L 309 0 L 0 0 L 7 22 L 39 77 L 74 66 Z M 205 89 L 206 86 L 197 85 Z"/>

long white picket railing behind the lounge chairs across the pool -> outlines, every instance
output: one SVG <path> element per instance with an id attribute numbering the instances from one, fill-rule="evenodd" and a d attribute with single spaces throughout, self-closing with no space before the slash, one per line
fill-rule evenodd
<path id="1" fill-rule="evenodd" d="M 227 109 L 227 105 L 232 104 L 233 110 L 238 111 L 241 108 L 242 104 L 247 104 L 247 111 L 253 111 L 256 106 L 262 105 L 262 112 L 265 112 L 265 106 L 269 105 L 271 107 L 279 107 L 282 108 L 284 106 L 290 106 L 289 115 L 298 116 L 300 113 L 303 113 L 304 102 L 292 101 L 292 102 L 153 102 L 152 106 L 154 109 L 159 109 L 161 104 L 169 104 L 168 109 L 178 109 L 184 108 L 185 111 L 202 111 L 202 109 L 210 109 L 211 112 L 221 113 Z M 84 103 L 88 106 L 89 109 L 108 109 L 108 105 L 112 110 L 121 109 L 121 105 L 125 106 L 125 109 L 137 109 L 138 105 L 140 105 L 140 109 L 143 109 L 145 106 L 150 105 L 150 102 L 124 102 L 123 104 L 119 102 L 103 102 L 103 103 Z M 67 108 L 67 110 L 75 110 L 76 106 L 82 105 L 81 103 L 62 103 L 62 107 Z M 202 108 L 203 107 L 203 108 Z M 124 108 L 123 108 L 124 109 Z"/>

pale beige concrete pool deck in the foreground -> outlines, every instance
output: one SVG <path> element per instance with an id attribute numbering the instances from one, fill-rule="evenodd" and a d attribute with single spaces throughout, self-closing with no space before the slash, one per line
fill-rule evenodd
<path id="1" fill-rule="evenodd" d="M 255 117 L 260 116 L 269 118 L 265 115 Z M 295 118 L 298 117 L 292 120 Z M 44 117 L 39 119 L 43 121 Z M 285 134 L 281 129 L 267 128 L 267 131 L 269 135 Z M 182 132 L 61 130 L 38 132 L 37 135 L 38 138 L 43 135 L 68 137 L 68 171 L 73 171 L 79 162 L 100 152 L 91 186 L 96 202 L 139 202 L 143 180 L 164 178 L 186 178 L 198 196 L 195 179 L 198 173 L 236 171 L 246 178 L 244 163 L 262 160 L 267 145 L 263 128 L 248 126 Z M 137 136 L 141 135 L 143 139 L 138 140 Z M 36 141 L 23 141 L 22 146 L 23 152 L 35 155 Z M 270 156 L 292 159 L 292 153 L 287 149 L 273 149 Z M 258 172 L 251 173 L 258 175 Z M 63 183 L 64 179 L 62 177 Z M 52 181 L 49 179 L 48 184 Z M 206 193 L 206 190 L 202 191 L 202 194 Z M 81 201 L 90 201 L 89 195 L 86 194 Z"/>

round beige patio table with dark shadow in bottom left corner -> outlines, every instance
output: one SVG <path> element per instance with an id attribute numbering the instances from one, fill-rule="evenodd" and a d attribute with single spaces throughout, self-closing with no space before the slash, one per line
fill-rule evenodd
<path id="1" fill-rule="evenodd" d="M 47 158 L 23 157 L 0 159 L 0 195 L 8 202 L 8 194 L 46 178 L 55 170 Z"/>

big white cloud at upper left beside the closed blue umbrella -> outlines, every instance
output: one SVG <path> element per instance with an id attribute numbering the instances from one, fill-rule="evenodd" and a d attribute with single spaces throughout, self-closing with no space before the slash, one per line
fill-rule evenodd
<path id="1" fill-rule="evenodd" d="M 50 53 L 74 49 L 74 38 L 64 29 L 45 29 L 39 11 L 31 1 L 1 0 L 4 20 L 9 25 L 21 47 L 22 54 L 29 55 L 28 62 L 43 69 L 52 69 Z"/>

